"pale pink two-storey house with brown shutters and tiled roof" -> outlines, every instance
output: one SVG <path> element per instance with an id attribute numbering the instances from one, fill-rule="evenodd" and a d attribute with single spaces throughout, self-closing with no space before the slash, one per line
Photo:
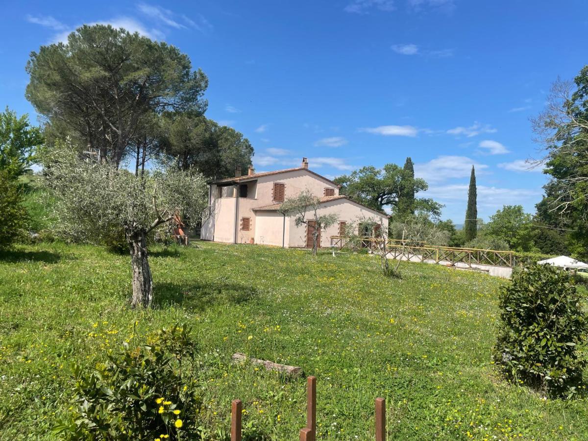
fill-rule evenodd
<path id="1" fill-rule="evenodd" d="M 321 199 L 319 215 L 339 216 L 336 225 L 320 232 L 320 246 L 329 246 L 331 236 L 345 235 L 346 225 L 361 218 L 376 218 L 382 228 L 388 228 L 388 216 L 339 195 L 339 186 L 309 170 L 306 158 L 298 168 L 255 173 L 249 167 L 246 175 L 237 170 L 234 178 L 211 182 L 209 187 L 209 206 L 202 218 L 203 240 L 310 248 L 313 222 L 296 226 L 295 216 L 280 212 L 286 199 L 306 189 Z M 306 219 L 312 218 L 313 213 L 308 212 Z"/>

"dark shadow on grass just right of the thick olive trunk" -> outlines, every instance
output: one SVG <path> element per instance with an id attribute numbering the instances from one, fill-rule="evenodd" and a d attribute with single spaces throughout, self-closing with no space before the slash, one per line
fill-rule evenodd
<path id="1" fill-rule="evenodd" d="M 155 308 L 179 305 L 198 311 L 219 303 L 240 305 L 259 294 L 256 288 L 241 283 L 154 283 L 153 292 Z"/>

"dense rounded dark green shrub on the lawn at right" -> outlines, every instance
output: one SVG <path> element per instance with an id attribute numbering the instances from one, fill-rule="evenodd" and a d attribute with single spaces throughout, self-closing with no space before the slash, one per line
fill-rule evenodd
<path id="1" fill-rule="evenodd" d="M 502 373 L 553 397 L 579 392 L 586 316 L 569 275 L 549 265 L 516 272 L 500 293 L 500 310 L 494 359 Z"/>

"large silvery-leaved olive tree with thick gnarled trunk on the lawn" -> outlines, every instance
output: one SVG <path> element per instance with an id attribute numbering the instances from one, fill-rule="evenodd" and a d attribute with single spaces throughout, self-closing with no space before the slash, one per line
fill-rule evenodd
<path id="1" fill-rule="evenodd" d="M 62 236 L 100 242 L 122 229 L 132 265 L 132 308 L 151 306 L 153 288 L 147 236 L 176 213 L 197 218 L 206 205 L 200 173 L 175 168 L 135 176 L 126 169 L 80 158 L 69 143 L 44 155 L 46 182 L 56 198 L 56 228 Z"/>

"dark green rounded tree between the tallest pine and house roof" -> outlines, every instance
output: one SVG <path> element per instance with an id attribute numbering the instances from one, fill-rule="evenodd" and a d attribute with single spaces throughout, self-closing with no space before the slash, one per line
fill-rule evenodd
<path id="1" fill-rule="evenodd" d="M 186 112 L 166 115 L 165 121 L 165 153 L 182 170 L 197 168 L 208 178 L 222 179 L 251 164 L 253 147 L 235 129 Z"/>

